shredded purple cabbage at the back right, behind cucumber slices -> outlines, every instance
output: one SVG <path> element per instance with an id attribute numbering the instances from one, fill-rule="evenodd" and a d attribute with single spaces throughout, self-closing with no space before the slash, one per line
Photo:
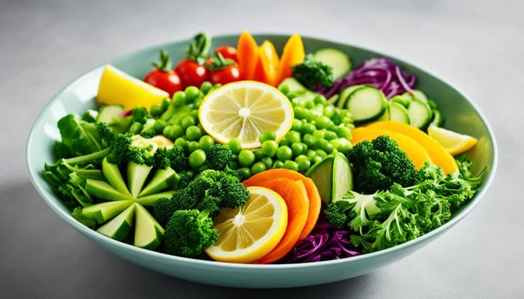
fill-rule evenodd
<path id="1" fill-rule="evenodd" d="M 329 88 L 319 86 L 316 92 L 330 98 L 334 94 L 341 93 L 347 86 L 368 84 L 383 91 L 387 98 L 391 98 L 398 94 L 411 92 L 416 82 L 417 77 L 414 74 L 408 76 L 391 60 L 372 58 L 364 61 L 346 77 L 336 80 L 333 86 Z"/>

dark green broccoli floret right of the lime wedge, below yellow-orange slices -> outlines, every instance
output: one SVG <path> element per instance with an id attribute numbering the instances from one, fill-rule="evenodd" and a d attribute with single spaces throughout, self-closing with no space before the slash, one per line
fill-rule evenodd
<path id="1" fill-rule="evenodd" d="M 417 183 L 418 172 L 413 162 L 397 142 L 387 136 L 359 142 L 347 152 L 347 159 L 356 170 L 355 190 L 359 192 L 387 190 L 393 183 L 402 186 Z"/>

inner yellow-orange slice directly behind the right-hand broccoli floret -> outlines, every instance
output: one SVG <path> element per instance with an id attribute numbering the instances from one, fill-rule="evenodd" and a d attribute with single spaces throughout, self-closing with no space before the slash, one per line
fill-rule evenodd
<path id="1" fill-rule="evenodd" d="M 401 150 L 405 151 L 408 154 L 408 158 L 411 161 L 413 161 L 413 164 L 415 165 L 416 169 L 421 168 L 422 165 L 424 165 L 425 161 L 431 161 L 430 157 L 428 156 L 428 153 L 424 150 L 424 148 L 421 145 L 419 145 L 419 143 L 397 132 L 387 130 L 374 130 L 368 129 L 367 127 L 361 127 L 351 131 L 351 134 L 353 135 L 353 139 L 351 140 L 351 143 L 353 143 L 353 145 L 356 145 L 358 142 L 361 142 L 363 140 L 372 141 L 378 136 L 389 136 L 391 139 L 397 141 L 398 147 Z"/>

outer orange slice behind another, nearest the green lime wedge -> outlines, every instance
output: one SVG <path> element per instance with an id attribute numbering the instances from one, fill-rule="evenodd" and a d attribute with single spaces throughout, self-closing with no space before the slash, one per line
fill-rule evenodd
<path id="1" fill-rule="evenodd" d="M 319 219 L 320 208 L 322 206 L 322 201 L 320 200 L 319 190 L 316 188 L 313 180 L 306 178 L 299 172 L 292 171 L 289 169 L 270 169 L 263 172 L 259 172 L 253 175 L 248 180 L 244 181 L 245 185 L 249 186 L 260 186 L 264 182 L 270 182 L 278 178 L 286 178 L 293 181 L 302 181 L 305 186 L 305 191 L 308 193 L 309 208 L 308 208 L 308 219 L 305 222 L 304 228 L 299 236 L 299 241 L 305 239 L 313 230 L 313 227 L 316 224 L 316 221 Z"/>

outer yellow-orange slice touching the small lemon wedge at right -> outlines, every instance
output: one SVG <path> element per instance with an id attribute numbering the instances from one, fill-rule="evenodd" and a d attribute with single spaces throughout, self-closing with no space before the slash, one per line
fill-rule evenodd
<path id="1" fill-rule="evenodd" d="M 367 126 L 369 129 L 387 130 L 407 136 L 417 143 L 428 153 L 431 162 L 442 167 L 444 173 L 455 172 L 459 170 L 453 156 L 435 139 L 431 138 L 423 131 L 412 127 L 408 124 L 398 123 L 397 121 L 377 121 Z"/>

